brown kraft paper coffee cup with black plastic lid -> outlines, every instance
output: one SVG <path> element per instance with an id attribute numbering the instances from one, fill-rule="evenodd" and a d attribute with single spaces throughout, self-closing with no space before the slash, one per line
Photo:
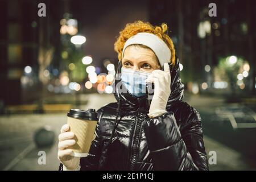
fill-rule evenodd
<path id="1" fill-rule="evenodd" d="M 73 156 L 86 157 L 94 140 L 94 131 L 98 121 L 97 113 L 95 109 L 71 109 L 67 116 L 69 130 L 75 134 L 76 140 L 76 144 L 68 148 L 73 150 Z"/>

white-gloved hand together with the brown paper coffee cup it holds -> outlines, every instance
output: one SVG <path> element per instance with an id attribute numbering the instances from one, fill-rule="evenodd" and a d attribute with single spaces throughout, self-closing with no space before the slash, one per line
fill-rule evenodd
<path id="1" fill-rule="evenodd" d="M 80 157 L 86 157 L 95 139 L 97 113 L 94 109 L 69 110 L 68 124 L 61 127 L 58 158 L 68 169 L 79 166 Z"/>

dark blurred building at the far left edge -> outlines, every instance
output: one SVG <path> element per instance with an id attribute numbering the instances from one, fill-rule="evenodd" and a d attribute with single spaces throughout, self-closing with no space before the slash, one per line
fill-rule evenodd
<path id="1" fill-rule="evenodd" d="M 38 29 L 31 9 L 33 1 L 1 1 L 1 34 L 0 34 L 0 79 L 1 100 L 5 104 L 21 102 L 20 78 L 24 67 L 34 67 L 37 59 Z M 26 10 L 26 11 L 24 11 Z M 28 70 L 29 71 L 29 70 Z"/>

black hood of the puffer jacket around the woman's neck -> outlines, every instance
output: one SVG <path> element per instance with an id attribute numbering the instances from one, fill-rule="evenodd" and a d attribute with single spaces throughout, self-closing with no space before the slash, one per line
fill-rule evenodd
<path id="1" fill-rule="evenodd" d="M 179 67 L 179 59 L 176 57 L 175 65 L 172 67 L 170 63 L 168 63 L 170 66 L 170 72 L 171 72 L 171 94 L 168 98 L 166 109 L 170 109 L 170 107 L 174 104 L 176 101 L 182 101 L 183 100 L 183 93 L 184 93 L 184 85 L 181 82 L 180 78 L 180 67 Z M 114 90 L 114 96 L 115 99 L 121 104 L 121 110 L 125 109 L 126 111 L 133 111 L 137 110 L 138 107 L 144 107 L 146 108 L 146 96 L 142 97 L 135 97 L 129 92 L 123 93 L 121 92 L 122 84 L 121 81 L 121 68 L 122 63 L 121 61 L 118 61 L 118 67 L 117 67 L 117 73 L 115 74 L 115 90 Z"/>

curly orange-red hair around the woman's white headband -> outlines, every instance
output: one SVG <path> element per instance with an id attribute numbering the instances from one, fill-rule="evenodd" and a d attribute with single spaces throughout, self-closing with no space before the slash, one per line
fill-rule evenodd
<path id="1" fill-rule="evenodd" d="M 125 28 L 119 32 L 119 36 L 114 43 L 114 50 L 118 53 L 118 59 L 122 59 L 123 46 L 125 46 L 126 40 L 128 40 L 131 36 L 138 34 L 139 32 L 148 32 L 158 36 L 167 44 L 172 54 L 170 63 L 175 65 L 174 43 L 172 42 L 170 36 L 164 33 L 167 31 L 167 29 L 168 27 L 166 23 L 162 23 L 161 26 L 152 26 L 151 23 L 142 22 L 141 20 L 137 20 L 134 23 L 127 23 Z"/>

